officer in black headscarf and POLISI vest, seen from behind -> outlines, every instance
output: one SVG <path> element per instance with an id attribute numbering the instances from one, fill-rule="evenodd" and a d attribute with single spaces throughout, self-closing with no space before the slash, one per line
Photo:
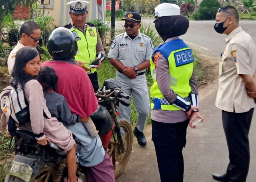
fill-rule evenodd
<path id="1" fill-rule="evenodd" d="M 193 71 L 192 50 L 179 38 L 189 21 L 180 7 L 162 3 L 155 8 L 155 28 L 164 43 L 150 59 L 152 140 L 157 154 L 161 182 L 183 182 L 182 149 L 187 126 L 203 117 L 199 113 L 198 84 Z"/>

